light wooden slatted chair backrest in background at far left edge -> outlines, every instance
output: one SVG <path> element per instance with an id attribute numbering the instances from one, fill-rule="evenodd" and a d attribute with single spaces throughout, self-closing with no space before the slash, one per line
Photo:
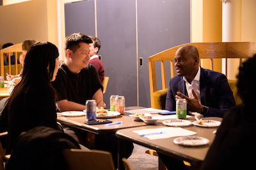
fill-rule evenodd
<path id="1" fill-rule="evenodd" d="M 14 73 L 12 73 L 11 56 L 10 56 L 10 54 L 12 52 L 15 55 L 15 65 L 14 65 L 15 72 Z M 4 53 L 8 53 L 8 70 L 7 70 L 7 72 L 9 74 L 17 75 L 21 70 L 21 65 L 20 64 L 18 65 L 18 59 L 19 59 L 20 54 L 22 54 L 22 43 L 17 43 L 15 45 L 12 45 L 10 47 L 0 50 L 0 68 L 1 68 L 0 73 L 1 73 L 1 76 L 4 76 Z"/>

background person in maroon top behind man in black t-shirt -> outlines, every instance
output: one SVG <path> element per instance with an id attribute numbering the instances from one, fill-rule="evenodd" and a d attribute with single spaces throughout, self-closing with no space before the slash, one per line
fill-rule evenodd
<path id="1" fill-rule="evenodd" d="M 89 36 L 89 37 L 92 39 L 93 43 L 90 43 L 90 60 L 88 63 L 95 66 L 95 68 L 99 74 L 100 82 L 102 82 L 104 79 L 105 68 L 103 66 L 102 61 L 99 59 L 99 56 L 98 56 L 98 52 L 100 50 L 101 43 L 100 43 L 99 38 L 97 38 L 95 36 Z"/>

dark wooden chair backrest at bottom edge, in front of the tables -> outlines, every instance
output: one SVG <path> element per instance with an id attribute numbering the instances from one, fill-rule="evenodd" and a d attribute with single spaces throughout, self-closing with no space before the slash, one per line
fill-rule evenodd
<path id="1" fill-rule="evenodd" d="M 63 150 L 63 155 L 67 160 L 68 169 L 93 169 L 93 170 L 114 170 L 114 162 L 111 153 L 99 150 Z"/>

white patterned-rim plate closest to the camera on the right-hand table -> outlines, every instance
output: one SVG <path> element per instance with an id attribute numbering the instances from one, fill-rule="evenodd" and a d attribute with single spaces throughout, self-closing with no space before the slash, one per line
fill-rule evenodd
<path id="1" fill-rule="evenodd" d="M 184 136 L 175 138 L 173 142 L 182 146 L 202 146 L 208 144 L 209 140 L 198 136 Z"/>

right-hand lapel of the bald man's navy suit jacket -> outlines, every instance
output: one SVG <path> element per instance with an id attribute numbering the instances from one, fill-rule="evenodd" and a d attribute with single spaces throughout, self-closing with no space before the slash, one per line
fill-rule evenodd
<path id="1" fill-rule="evenodd" d="M 200 97 L 201 97 L 201 104 L 207 104 L 206 101 L 206 91 L 207 91 L 207 84 L 209 83 L 209 79 L 207 74 L 205 73 L 204 68 L 200 66 L 201 75 L 200 75 Z"/>

